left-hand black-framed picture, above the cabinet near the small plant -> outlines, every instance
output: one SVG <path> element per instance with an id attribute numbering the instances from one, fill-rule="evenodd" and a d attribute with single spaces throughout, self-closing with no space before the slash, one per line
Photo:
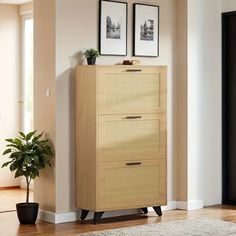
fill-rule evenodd
<path id="1" fill-rule="evenodd" d="M 99 51 L 101 55 L 127 55 L 127 3 L 100 0 Z"/>

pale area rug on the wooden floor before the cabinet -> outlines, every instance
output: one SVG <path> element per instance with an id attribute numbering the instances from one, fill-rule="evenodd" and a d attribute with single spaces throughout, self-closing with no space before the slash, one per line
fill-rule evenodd
<path id="1" fill-rule="evenodd" d="M 236 235 L 236 224 L 209 218 L 118 228 L 80 236 L 228 236 Z"/>

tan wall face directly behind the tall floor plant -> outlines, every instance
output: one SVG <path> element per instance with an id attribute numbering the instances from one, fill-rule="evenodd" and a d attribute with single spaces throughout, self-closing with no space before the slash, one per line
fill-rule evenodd
<path id="1" fill-rule="evenodd" d="M 34 0 L 34 128 L 45 132 L 55 147 L 55 1 Z M 47 90 L 51 96 L 46 95 Z M 58 95 L 60 96 L 60 94 Z M 57 152 L 57 150 L 55 150 Z M 34 201 L 56 210 L 55 168 L 40 172 L 34 181 Z M 63 171 L 61 172 L 63 174 Z"/>

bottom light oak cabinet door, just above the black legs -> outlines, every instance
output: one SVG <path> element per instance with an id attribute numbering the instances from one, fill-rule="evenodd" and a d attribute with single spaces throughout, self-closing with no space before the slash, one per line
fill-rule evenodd
<path id="1" fill-rule="evenodd" d="M 98 207 L 129 209 L 166 204 L 166 160 L 100 163 Z"/>

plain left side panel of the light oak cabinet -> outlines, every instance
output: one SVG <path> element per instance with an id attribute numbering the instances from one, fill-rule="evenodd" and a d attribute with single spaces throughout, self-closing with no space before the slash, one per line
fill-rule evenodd
<path id="1" fill-rule="evenodd" d="M 76 67 L 76 207 L 96 210 L 96 67 Z"/>

